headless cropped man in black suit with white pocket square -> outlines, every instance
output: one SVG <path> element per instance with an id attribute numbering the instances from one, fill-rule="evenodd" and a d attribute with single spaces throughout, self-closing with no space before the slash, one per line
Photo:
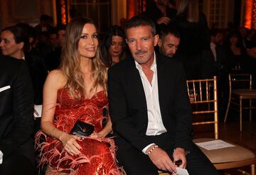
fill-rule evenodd
<path id="1" fill-rule="evenodd" d="M 0 174 L 34 174 L 33 87 L 24 60 L 0 55 Z"/>

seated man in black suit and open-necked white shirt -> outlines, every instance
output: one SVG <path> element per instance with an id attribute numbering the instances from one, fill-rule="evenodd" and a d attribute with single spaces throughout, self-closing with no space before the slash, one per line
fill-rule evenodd
<path id="1" fill-rule="evenodd" d="M 176 172 L 218 174 L 191 140 L 191 106 L 181 62 L 154 52 L 154 22 L 134 16 L 126 26 L 132 57 L 110 68 L 108 97 L 117 135 L 117 160 L 129 175 Z"/>

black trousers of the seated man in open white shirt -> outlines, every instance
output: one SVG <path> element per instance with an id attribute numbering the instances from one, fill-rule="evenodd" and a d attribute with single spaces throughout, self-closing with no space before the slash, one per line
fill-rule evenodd
<path id="1" fill-rule="evenodd" d="M 157 137 L 157 136 L 152 136 Z M 166 136 L 168 137 L 168 136 Z M 151 162 L 149 157 L 142 151 L 130 145 L 119 145 L 123 141 L 116 140 L 117 144 L 117 160 L 120 166 L 124 167 L 127 175 L 158 175 L 158 169 Z M 154 140 L 156 145 L 166 150 L 169 157 L 173 160 L 174 144 L 172 140 L 159 137 Z M 201 150 L 191 141 L 189 153 L 186 155 L 186 169 L 190 175 L 217 175 L 218 170 L 215 169 L 210 160 L 201 152 Z"/>

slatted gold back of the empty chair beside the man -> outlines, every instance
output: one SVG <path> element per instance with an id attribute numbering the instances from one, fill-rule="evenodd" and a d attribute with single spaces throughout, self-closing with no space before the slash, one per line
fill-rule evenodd
<path id="1" fill-rule="evenodd" d="M 188 96 L 193 109 L 193 117 L 201 116 L 202 119 L 193 122 L 193 125 L 214 125 L 214 137 L 218 139 L 218 97 L 217 79 L 187 80 Z M 211 115 L 210 118 L 205 114 Z"/>

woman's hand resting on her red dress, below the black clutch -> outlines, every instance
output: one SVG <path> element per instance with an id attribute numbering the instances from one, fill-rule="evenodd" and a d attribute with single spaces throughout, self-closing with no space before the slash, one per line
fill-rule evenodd
<path id="1" fill-rule="evenodd" d="M 76 140 L 81 140 L 77 135 L 69 135 L 67 133 L 63 133 L 60 136 L 60 141 L 63 144 L 64 149 L 71 155 L 80 154 L 80 150 L 82 147 L 76 142 Z"/>

